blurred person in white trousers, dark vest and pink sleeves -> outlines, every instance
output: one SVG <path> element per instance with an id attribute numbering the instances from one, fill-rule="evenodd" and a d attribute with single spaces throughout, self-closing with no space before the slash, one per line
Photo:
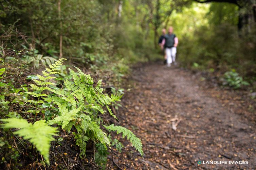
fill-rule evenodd
<path id="1" fill-rule="evenodd" d="M 173 62 L 174 65 L 176 65 L 176 52 L 177 52 L 177 46 L 178 46 L 178 38 L 175 34 L 172 33 L 173 28 L 169 27 L 168 34 L 164 36 L 164 40 L 162 41 L 162 44 L 165 48 L 165 53 L 167 56 L 167 66 L 170 67 L 171 63 Z"/>

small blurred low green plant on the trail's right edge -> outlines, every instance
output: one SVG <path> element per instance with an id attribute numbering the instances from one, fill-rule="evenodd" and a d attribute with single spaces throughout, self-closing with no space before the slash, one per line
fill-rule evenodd
<path id="1" fill-rule="evenodd" d="M 225 72 L 223 85 L 230 86 L 234 89 L 239 89 L 242 85 L 249 86 L 250 83 L 248 83 L 247 81 L 243 81 L 243 78 L 233 70 Z"/>

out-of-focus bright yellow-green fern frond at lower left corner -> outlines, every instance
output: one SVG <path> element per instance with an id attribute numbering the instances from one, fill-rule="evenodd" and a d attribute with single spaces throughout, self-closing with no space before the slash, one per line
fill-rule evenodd
<path id="1" fill-rule="evenodd" d="M 50 142 L 55 140 L 52 136 L 57 136 L 57 128 L 48 126 L 45 120 L 36 121 L 34 124 L 17 118 L 1 119 L 1 121 L 4 122 L 1 124 L 3 128 L 20 128 L 14 134 L 28 139 L 49 164 Z"/>

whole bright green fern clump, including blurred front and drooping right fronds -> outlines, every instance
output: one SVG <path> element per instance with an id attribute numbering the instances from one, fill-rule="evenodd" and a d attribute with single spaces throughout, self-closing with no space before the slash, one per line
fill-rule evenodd
<path id="1" fill-rule="evenodd" d="M 54 140 L 52 136 L 56 135 L 56 128 L 49 125 L 57 124 L 61 129 L 73 133 L 82 156 L 86 155 L 87 143 L 93 141 L 98 150 L 95 161 L 104 167 L 107 160 L 105 157 L 107 148 L 115 145 L 118 151 L 121 151 L 122 144 L 116 140 L 112 141 L 107 133 L 100 128 L 103 120 L 98 118 L 98 114 L 108 112 L 117 119 L 116 115 L 112 113 L 110 105 L 121 101 L 123 92 L 122 90 L 115 91 L 115 94 L 111 94 L 111 96 L 105 94 L 101 87 L 102 80 L 98 80 L 95 84 L 89 74 L 83 73 L 77 67 L 75 67 L 77 72 L 69 69 L 71 80 L 65 79 L 64 82 L 61 82 L 61 79 L 58 80 L 56 76 L 60 74 L 64 60 L 65 58 L 57 60 L 49 68 L 43 70 L 41 75 L 29 76 L 34 82 L 34 84 L 29 84 L 32 91 L 26 89 L 26 93 L 23 95 L 29 94 L 32 99 L 24 98 L 27 104 L 24 102 L 22 104 L 23 107 L 26 105 L 27 114 L 34 114 L 34 119 L 30 119 L 34 123 L 28 123 L 19 117 L 1 119 L 4 122 L 2 126 L 4 128 L 20 128 L 15 134 L 28 139 L 49 162 L 50 142 Z M 62 88 L 56 87 L 56 83 L 61 84 Z M 47 116 L 49 113 L 52 116 Z M 37 121 L 36 116 L 39 115 L 41 115 L 40 119 L 44 119 L 45 116 L 47 122 L 46 120 Z M 143 156 L 141 141 L 130 130 L 118 127 Z"/>

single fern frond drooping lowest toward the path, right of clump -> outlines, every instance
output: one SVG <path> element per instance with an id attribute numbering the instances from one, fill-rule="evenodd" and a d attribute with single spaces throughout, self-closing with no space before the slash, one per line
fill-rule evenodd
<path id="1" fill-rule="evenodd" d="M 103 125 L 107 130 L 109 131 L 116 131 L 117 134 L 119 133 L 123 133 L 122 137 L 125 138 L 127 137 L 128 140 L 130 140 L 132 146 L 134 146 L 134 148 L 140 152 L 141 156 L 144 155 L 144 152 L 142 150 L 142 143 L 141 140 L 139 138 L 137 138 L 132 131 L 130 131 L 129 129 L 126 129 L 125 127 L 122 126 L 114 126 L 114 124 L 110 125 L 110 126 L 105 126 Z"/>

